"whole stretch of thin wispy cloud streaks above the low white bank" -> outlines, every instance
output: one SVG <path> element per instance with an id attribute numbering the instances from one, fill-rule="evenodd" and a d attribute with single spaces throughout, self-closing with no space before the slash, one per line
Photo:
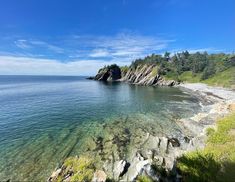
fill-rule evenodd
<path id="1" fill-rule="evenodd" d="M 82 59 L 135 59 L 166 49 L 175 40 L 119 33 L 114 36 L 72 35 L 59 40 L 18 39 L 17 48 L 27 54 L 45 54 L 51 58 Z M 61 47 L 63 45 L 63 48 Z"/>

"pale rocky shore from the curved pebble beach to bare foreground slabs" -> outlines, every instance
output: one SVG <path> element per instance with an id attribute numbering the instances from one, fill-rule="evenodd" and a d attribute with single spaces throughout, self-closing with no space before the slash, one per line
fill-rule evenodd
<path id="1" fill-rule="evenodd" d="M 230 105 L 235 103 L 235 92 L 225 88 L 211 87 L 201 83 L 180 84 L 177 87 L 196 95 L 202 101 L 202 112 L 190 118 L 175 121 L 183 131 L 183 137 L 154 136 L 146 133 L 141 150 L 133 148 L 133 154 L 129 159 L 111 159 L 104 164 L 102 174 L 105 175 L 103 177 L 108 174 L 118 181 L 133 181 L 139 175 L 148 175 L 154 180 L 169 180 L 169 176 L 163 177 L 159 171 L 153 171 L 151 166 L 154 164 L 163 167 L 167 174 L 176 171 L 177 158 L 189 151 L 203 149 L 207 138 L 206 129 L 215 127 L 215 121 L 227 115 L 230 112 Z M 62 165 L 53 172 L 48 181 L 56 181 L 63 170 L 66 168 L 64 169 Z M 97 171 L 94 173 L 93 181 L 97 179 L 96 174 Z M 64 180 L 69 181 L 70 177 L 67 175 Z"/>

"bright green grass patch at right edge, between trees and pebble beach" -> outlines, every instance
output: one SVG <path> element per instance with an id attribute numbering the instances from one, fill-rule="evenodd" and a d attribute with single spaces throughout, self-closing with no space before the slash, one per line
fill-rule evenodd
<path id="1" fill-rule="evenodd" d="M 235 67 L 216 73 L 215 76 L 202 82 L 212 86 L 235 88 Z"/>

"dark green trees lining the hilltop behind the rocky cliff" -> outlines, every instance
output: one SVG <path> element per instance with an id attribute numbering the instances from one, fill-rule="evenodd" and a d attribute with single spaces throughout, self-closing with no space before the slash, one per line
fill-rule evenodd
<path id="1" fill-rule="evenodd" d="M 192 76 L 200 74 L 201 80 L 205 80 L 218 72 L 235 66 L 235 55 L 224 53 L 208 54 L 207 52 L 189 53 L 188 51 L 183 51 L 171 56 L 169 52 L 166 52 L 164 55 L 152 54 L 143 59 L 136 59 L 130 67 L 136 69 L 137 66 L 144 64 L 154 64 L 158 66 L 159 74 L 170 75 L 174 79 L 177 79 L 185 71 L 191 71 Z"/>

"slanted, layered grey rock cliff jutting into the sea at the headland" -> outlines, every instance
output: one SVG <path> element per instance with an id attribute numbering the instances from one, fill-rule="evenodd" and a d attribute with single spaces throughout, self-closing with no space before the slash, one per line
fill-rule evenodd
<path id="1" fill-rule="evenodd" d="M 118 66 L 105 67 L 93 78 L 99 81 L 124 81 L 138 85 L 174 86 L 175 80 L 166 80 L 159 74 L 156 65 L 138 65 L 136 68 L 120 69 Z"/>

